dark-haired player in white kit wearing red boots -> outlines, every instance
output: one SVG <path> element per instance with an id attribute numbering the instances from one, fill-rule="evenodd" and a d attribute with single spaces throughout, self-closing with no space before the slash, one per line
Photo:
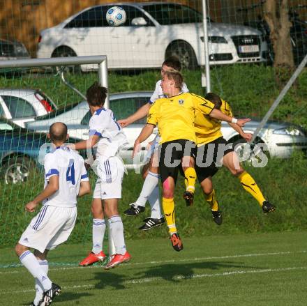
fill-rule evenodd
<path id="1" fill-rule="evenodd" d="M 96 165 L 98 180 L 93 192 L 91 212 L 93 213 L 93 248 L 80 266 L 89 266 L 96 261 L 103 261 L 103 238 L 105 235 L 105 217 L 110 224 L 110 234 L 114 241 L 116 254 L 107 263 L 105 269 L 114 268 L 119 263 L 130 260 L 123 237 L 123 222 L 118 211 L 121 199 L 121 183 L 124 166 L 118 152 L 128 144 L 125 133 L 114 118 L 110 109 L 103 107 L 107 89 L 97 82 L 87 89 L 87 102 L 93 115 L 89 120 L 89 139 L 71 145 L 76 150 L 97 148 Z"/>

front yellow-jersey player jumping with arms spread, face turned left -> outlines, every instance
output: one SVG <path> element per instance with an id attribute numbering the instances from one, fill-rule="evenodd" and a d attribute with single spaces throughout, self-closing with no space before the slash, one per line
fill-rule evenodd
<path id="1" fill-rule="evenodd" d="M 194 169 L 195 156 L 195 111 L 209 115 L 219 120 L 234 122 L 240 126 L 250 119 L 235 119 L 214 109 L 214 103 L 192 93 L 182 93 L 182 76 L 180 72 L 168 71 L 163 75 L 161 88 L 167 98 L 156 100 L 149 109 L 147 125 L 144 126 L 139 137 L 135 140 L 133 155 L 158 125 L 160 133 L 159 168 L 163 189 L 163 211 L 170 239 L 174 250 L 181 251 L 183 245 L 177 234 L 174 217 L 174 188 L 179 168 L 184 170 L 186 192 L 184 198 L 188 204 L 193 202 L 196 173 Z"/>

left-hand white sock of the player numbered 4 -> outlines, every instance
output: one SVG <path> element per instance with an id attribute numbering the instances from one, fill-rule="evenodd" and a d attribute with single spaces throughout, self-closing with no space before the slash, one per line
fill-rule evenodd
<path id="1" fill-rule="evenodd" d="M 33 253 L 30 251 L 23 252 L 20 255 L 20 261 L 27 268 L 29 273 L 31 273 L 34 278 L 38 279 L 38 282 L 40 282 L 41 286 L 43 286 L 44 291 L 47 291 L 51 288 L 51 280 L 49 277 L 47 277 L 47 274 L 41 268 Z"/>

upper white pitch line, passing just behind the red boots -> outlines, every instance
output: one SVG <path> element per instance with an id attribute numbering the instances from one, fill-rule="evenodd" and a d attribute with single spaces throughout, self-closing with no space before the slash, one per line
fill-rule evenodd
<path id="1" fill-rule="evenodd" d="M 218 257 L 195 257 L 195 258 L 188 258 L 188 259 L 170 259 L 165 261 L 145 261 L 145 262 L 138 262 L 138 263 L 125 263 L 124 266 L 140 266 L 140 265 L 153 265 L 153 264 L 159 264 L 159 263 L 178 263 L 178 262 L 186 262 L 186 261 L 204 261 L 204 260 L 211 260 L 211 259 L 235 259 L 235 258 L 241 258 L 241 257 L 258 257 L 258 256 L 278 256 L 278 255 L 291 255 L 291 254 L 301 254 L 301 253 L 307 253 L 307 251 L 297 251 L 297 252 L 271 252 L 271 253 L 252 253 L 252 254 L 238 254 L 238 255 L 225 255 L 225 256 L 218 256 Z M 50 263 L 50 266 L 58 265 L 59 263 Z M 64 265 L 61 263 L 61 265 Z M 12 267 L 12 266 L 5 266 L 0 268 L 20 268 L 22 267 L 22 264 L 18 264 L 18 266 Z M 85 269 L 85 268 L 101 268 L 102 265 L 96 264 L 94 266 L 87 266 L 87 267 L 80 267 L 77 263 L 67 263 L 66 267 L 61 268 L 50 268 L 50 271 L 59 271 L 59 270 L 72 270 L 72 269 Z M 0 271 L 0 275 L 3 274 L 13 274 L 13 273 L 20 273 L 21 271 L 7 271 L 2 272 Z M 27 270 L 24 270 L 24 272 L 27 272 Z"/>

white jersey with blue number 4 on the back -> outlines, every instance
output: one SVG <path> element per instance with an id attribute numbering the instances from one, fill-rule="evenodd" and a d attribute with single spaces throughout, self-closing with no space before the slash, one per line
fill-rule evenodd
<path id="1" fill-rule="evenodd" d="M 45 199 L 45 206 L 75 207 L 82 181 L 89 181 L 84 159 L 70 148 L 59 146 L 45 155 L 45 187 L 52 176 L 59 176 L 59 190 Z"/>

